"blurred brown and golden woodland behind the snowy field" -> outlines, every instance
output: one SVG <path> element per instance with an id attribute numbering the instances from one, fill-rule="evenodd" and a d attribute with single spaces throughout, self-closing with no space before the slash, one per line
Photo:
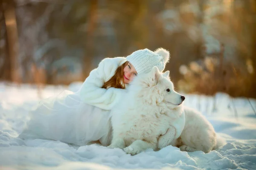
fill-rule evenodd
<path id="1" fill-rule="evenodd" d="M 256 98 L 256 0 L 0 2 L 0 81 L 68 85 L 163 47 L 177 90 Z"/>

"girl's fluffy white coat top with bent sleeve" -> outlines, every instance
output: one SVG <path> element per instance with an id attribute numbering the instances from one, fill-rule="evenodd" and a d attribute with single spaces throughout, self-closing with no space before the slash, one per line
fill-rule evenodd
<path id="1" fill-rule="evenodd" d="M 126 62 L 125 57 L 105 58 L 98 68 L 90 72 L 89 77 L 85 79 L 81 89 L 81 100 L 89 105 L 96 106 L 104 110 L 111 110 L 116 102 L 121 98 L 124 89 L 102 88 L 115 74 L 116 69 Z"/>

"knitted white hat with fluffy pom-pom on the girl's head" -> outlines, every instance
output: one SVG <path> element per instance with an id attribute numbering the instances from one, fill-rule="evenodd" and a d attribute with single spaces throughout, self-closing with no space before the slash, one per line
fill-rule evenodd
<path id="1" fill-rule="evenodd" d="M 154 66 L 157 66 L 159 71 L 162 72 L 169 58 L 169 51 L 164 48 L 158 48 L 154 52 L 145 48 L 134 51 L 126 57 L 127 61 L 131 62 L 138 74 L 148 73 Z"/>

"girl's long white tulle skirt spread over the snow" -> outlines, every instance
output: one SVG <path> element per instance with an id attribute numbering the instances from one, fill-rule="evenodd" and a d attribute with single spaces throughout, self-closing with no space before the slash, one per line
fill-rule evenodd
<path id="1" fill-rule="evenodd" d="M 64 91 L 44 99 L 29 114 L 30 120 L 20 138 L 59 140 L 79 146 L 99 140 L 111 142 L 110 111 L 81 102 L 79 92 Z"/>

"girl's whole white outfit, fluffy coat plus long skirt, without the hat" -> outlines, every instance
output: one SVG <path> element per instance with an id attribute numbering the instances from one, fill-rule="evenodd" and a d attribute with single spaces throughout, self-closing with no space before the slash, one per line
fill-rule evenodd
<path id="1" fill-rule="evenodd" d="M 30 121 L 19 137 L 59 140 L 79 146 L 99 140 L 103 146 L 109 145 L 110 111 L 124 89 L 101 87 L 124 62 L 125 57 L 105 58 L 90 72 L 79 91 L 64 91 L 41 101 L 31 111 Z"/>

